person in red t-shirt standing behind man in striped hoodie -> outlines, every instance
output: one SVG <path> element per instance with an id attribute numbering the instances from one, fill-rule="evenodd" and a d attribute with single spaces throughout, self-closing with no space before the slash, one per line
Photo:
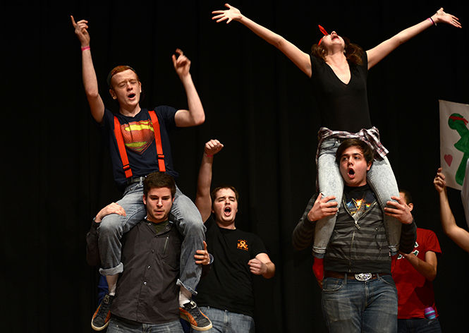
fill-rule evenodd
<path id="1" fill-rule="evenodd" d="M 412 211 L 410 192 L 399 190 L 399 195 Z M 398 333 L 441 332 L 432 284 L 440 254 L 437 235 L 417 228 L 414 250 L 398 255 L 392 272 L 398 295 Z"/>

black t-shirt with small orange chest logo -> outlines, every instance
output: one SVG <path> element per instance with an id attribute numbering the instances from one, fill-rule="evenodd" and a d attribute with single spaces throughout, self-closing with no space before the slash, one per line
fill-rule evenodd
<path id="1" fill-rule="evenodd" d="M 250 232 L 220 228 L 213 217 L 209 217 L 205 226 L 207 249 L 214 262 L 197 286 L 197 305 L 252 317 L 254 297 L 248 261 L 266 253 L 264 243 Z"/>

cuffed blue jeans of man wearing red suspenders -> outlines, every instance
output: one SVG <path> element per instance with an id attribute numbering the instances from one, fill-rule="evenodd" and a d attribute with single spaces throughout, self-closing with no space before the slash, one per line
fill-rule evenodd
<path id="1" fill-rule="evenodd" d="M 147 210 L 143 205 L 143 183 L 135 183 L 128 186 L 123 198 L 118 204 L 126 210 L 126 216 L 110 214 L 102 219 L 98 226 L 99 255 L 102 275 L 114 275 L 123 272 L 121 262 L 121 237 L 135 224 L 145 218 Z M 195 263 L 196 250 L 204 248 L 205 226 L 200 217 L 200 212 L 194 203 L 176 187 L 176 195 L 169 216 L 176 223 L 178 231 L 183 235 L 181 244 L 181 262 L 178 286 L 197 295 L 195 287 L 199 283 L 202 274 L 202 266 Z"/>

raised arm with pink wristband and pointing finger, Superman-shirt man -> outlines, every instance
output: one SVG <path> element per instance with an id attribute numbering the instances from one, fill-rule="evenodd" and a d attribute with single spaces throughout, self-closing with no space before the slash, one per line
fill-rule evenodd
<path id="1" fill-rule="evenodd" d="M 88 34 L 88 21 L 79 20 L 75 23 L 73 16 L 70 16 L 73 28 L 75 28 L 75 35 L 81 44 L 82 56 L 82 75 L 83 85 L 85 86 L 86 98 L 90 104 L 91 115 L 98 123 L 101 123 L 104 116 L 104 103 L 98 92 L 98 81 L 96 78 L 95 67 L 91 58 L 90 49 L 90 34 Z"/>

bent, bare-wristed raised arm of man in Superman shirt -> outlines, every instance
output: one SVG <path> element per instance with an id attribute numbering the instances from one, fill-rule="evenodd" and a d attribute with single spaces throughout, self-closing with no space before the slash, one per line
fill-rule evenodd
<path id="1" fill-rule="evenodd" d="M 176 49 L 176 55 L 173 54 L 173 65 L 179 79 L 183 83 L 185 95 L 188 97 L 188 110 L 178 110 L 174 120 L 178 127 L 197 126 L 205 121 L 204 108 L 200 102 L 199 94 L 195 90 L 195 85 L 190 75 L 190 60 L 183 54 L 181 49 Z"/>

